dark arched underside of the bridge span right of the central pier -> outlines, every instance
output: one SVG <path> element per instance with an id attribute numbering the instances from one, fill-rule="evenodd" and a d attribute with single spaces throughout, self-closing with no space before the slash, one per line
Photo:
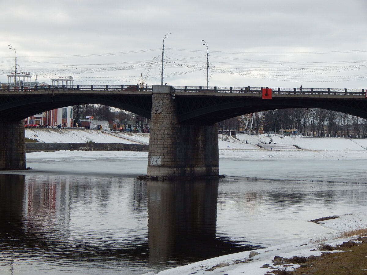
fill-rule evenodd
<path id="1" fill-rule="evenodd" d="M 200 121 L 203 124 L 212 124 L 243 114 L 259 111 L 288 109 L 288 108 L 320 108 L 338 111 L 367 119 L 367 100 L 353 100 L 340 98 L 292 98 L 239 96 L 175 96 L 178 100 L 177 118 L 181 123 Z"/>

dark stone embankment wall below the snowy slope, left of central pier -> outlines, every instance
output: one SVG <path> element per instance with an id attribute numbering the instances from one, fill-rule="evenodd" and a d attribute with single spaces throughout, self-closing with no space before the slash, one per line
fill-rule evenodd
<path id="1" fill-rule="evenodd" d="M 149 145 L 128 143 L 43 143 L 26 142 L 26 153 L 55 152 L 60 150 L 85 150 L 85 151 L 148 151 Z"/>

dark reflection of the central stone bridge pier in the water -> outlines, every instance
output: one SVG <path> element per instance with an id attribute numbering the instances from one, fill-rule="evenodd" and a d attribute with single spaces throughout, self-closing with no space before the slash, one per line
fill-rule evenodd
<path id="1" fill-rule="evenodd" d="M 188 262 L 250 250 L 216 235 L 218 180 L 148 181 L 149 261 Z"/>

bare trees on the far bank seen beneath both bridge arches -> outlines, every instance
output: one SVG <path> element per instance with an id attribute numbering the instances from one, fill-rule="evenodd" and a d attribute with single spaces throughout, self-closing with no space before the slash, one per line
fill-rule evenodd
<path id="1" fill-rule="evenodd" d="M 114 124 L 133 125 L 136 128 L 149 128 L 149 120 L 141 115 L 99 104 L 85 104 L 73 107 L 74 119 L 94 116 L 95 120 L 109 120 Z M 239 130 L 237 117 L 219 122 L 219 128 Z M 297 129 L 305 136 L 367 136 L 367 120 L 353 115 L 324 109 L 298 108 L 264 111 L 257 115 L 254 129 L 266 132 L 279 132 L 280 129 Z"/>

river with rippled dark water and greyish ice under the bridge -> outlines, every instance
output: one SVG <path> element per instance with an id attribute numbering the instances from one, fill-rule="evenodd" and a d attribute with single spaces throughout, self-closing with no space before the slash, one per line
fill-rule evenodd
<path id="1" fill-rule="evenodd" d="M 34 154 L 34 153 L 33 153 Z M 0 274 L 132 274 L 333 233 L 367 210 L 364 161 L 221 158 L 219 180 L 155 182 L 146 153 L 50 153 L 0 175 Z"/>

